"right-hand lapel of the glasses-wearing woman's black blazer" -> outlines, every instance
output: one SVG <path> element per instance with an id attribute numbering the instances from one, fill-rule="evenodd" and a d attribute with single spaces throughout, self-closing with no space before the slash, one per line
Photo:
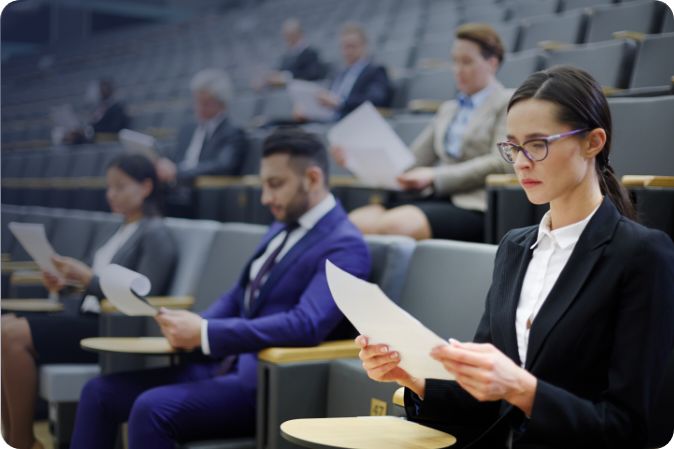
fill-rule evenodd
<path id="1" fill-rule="evenodd" d="M 571 257 L 531 326 L 526 362 L 528 370 L 536 362 L 549 333 L 578 297 L 606 244 L 612 239 L 619 219 L 618 210 L 605 198 L 578 239 Z"/>

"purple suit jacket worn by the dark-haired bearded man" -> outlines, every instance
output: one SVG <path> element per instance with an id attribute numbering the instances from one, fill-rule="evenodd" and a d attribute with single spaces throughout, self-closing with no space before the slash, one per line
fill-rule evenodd
<path id="1" fill-rule="evenodd" d="M 208 320 L 211 356 L 239 354 L 237 375 L 249 388 L 257 384 L 258 351 L 317 345 L 343 319 L 328 289 L 326 259 L 360 278 L 370 272 L 367 245 L 337 204 L 272 269 L 252 310 L 246 312 L 250 265 L 282 228 L 282 223 L 272 224 L 239 282 L 202 313 Z"/>

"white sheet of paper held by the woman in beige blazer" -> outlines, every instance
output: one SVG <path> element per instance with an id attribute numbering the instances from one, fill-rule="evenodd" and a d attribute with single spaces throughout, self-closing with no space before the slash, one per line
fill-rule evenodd
<path id="1" fill-rule="evenodd" d="M 400 189 L 396 177 L 414 164 L 414 155 L 369 101 L 328 131 L 330 145 L 342 147 L 346 167 L 373 187 Z"/>

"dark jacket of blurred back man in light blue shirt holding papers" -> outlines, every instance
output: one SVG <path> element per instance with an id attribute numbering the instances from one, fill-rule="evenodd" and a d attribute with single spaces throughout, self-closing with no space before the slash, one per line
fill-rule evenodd
<path id="1" fill-rule="evenodd" d="M 342 71 L 336 78 L 344 76 Z M 377 107 L 389 107 L 393 100 L 393 88 L 383 66 L 369 63 L 360 72 L 351 91 L 339 109 L 339 118 L 356 109 L 366 101 L 372 102 Z"/>

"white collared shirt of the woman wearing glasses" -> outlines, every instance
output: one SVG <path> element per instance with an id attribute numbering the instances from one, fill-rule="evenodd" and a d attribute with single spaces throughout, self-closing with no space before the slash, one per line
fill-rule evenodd
<path id="1" fill-rule="evenodd" d="M 550 211 L 548 211 L 538 226 L 538 238 L 530 248 L 534 253 L 524 275 L 515 315 L 517 349 L 522 366 L 526 364 L 529 346 L 530 330 L 527 329 L 527 321 L 531 319 L 533 322 L 536 319 L 557 278 L 569 261 L 576 242 L 597 209 L 599 206 L 583 220 L 555 230 L 550 230 Z"/>

